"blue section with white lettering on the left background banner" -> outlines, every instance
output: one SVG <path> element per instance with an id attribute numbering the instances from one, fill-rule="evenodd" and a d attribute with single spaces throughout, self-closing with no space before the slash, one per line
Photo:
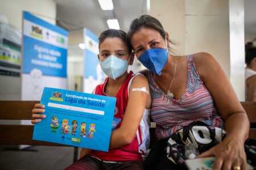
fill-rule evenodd
<path id="1" fill-rule="evenodd" d="M 46 42 L 23 37 L 23 73 L 37 68 L 43 75 L 67 77 L 67 49 L 49 45 Z"/>

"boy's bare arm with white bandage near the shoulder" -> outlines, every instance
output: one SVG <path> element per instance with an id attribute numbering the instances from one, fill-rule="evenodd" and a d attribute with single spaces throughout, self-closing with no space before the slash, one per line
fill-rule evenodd
<path id="1" fill-rule="evenodd" d="M 133 91 L 133 88 L 143 88 L 149 92 L 148 82 L 143 75 L 135 76 L 129 90 L 129 99 L 121 126 L 111 133 L 109 149 L 129 145 L 142 120 L 144 109 L 150 109 L 151 97 L 143 91 Z"/>

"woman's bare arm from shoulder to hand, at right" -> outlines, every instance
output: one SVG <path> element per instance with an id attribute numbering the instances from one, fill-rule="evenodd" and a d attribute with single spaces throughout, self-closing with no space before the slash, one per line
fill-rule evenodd
<path id="1" fill-rule="evenodd" d="M 214 169 L 246 169 L 243 143 L 249 134 L 249 120 L 224 70 L 208 53 L 195 54 L 196 68 L 213 97 L 218 113 L 225 121 L 226 137 L 219 145 L 198 158 L 216 156 Z"/>

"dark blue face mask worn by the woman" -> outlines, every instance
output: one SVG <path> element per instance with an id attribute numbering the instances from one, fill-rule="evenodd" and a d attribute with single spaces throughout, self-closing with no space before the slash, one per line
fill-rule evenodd
<path id="1" fill-rule="evenodd" d="M 139 57 L 139 61 L 147 67 L 152 73 L 161 74 L 164 65 L 166 65 L 168 59 L 168 49 L 162 48 L 151 48 L 146 50 L 141 57 Z"/>

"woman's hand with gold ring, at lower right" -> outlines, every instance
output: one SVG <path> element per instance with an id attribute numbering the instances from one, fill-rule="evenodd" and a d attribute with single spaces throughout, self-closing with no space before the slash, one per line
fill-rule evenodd
<path id="1" fill-rule="evenodd" d="M 203 152 L 196 158 L 203 158 L 207 156 L 215 156 L 213 169 L 234 169 L 233 167 L 240 167 L 240 169 L 247 169 L 247 161 L 243 141 L 236 138 L 225 138 L 218 145 Z"/>

